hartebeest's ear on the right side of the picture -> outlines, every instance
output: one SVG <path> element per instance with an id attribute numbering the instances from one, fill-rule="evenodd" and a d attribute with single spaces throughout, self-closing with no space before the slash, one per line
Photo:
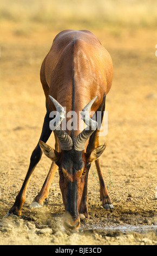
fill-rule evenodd
<path id="1" fill-rule="evenodd" d="M 103 145 L 95 149 L 91 149 L 89 152 L 85 153 L 87 163 L 91 163 L 96 159 L 98 159 L 102 155 L 105 149 L 106 149 L 106 143 L 104 143 Z"/>

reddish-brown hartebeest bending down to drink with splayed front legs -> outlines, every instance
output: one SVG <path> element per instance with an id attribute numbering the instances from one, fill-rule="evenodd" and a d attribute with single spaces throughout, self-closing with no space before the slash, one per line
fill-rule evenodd
<path id="1" fill-rule="evenodd" d="M 76 229 L 80 226 L 79 213 L 89 218 L 87 203 L 87 181 L 91 162 L 95 161 L 100 180 L 100 197 L 105 209 L 112 209 L 107 188 L 104 184 L 98 157 L 106 144 L 99 145 L 99 129 L 89 110 L 101 111 L 101 121 L 105 108 L 106 95 L 112 86 L 113 65 L 109 53 L 96 36 L 89 31 L 66 30 L 59 33 L 43 60 L 41 66 L 47 113 L 44 118 L 40 140 L 32 152 L 30 166 L 14 205 L 8 212 L 21 215 L 30 176 L 40 161 L 42 151 L 53 162 L 40 193 L 32 202 L 38 207 L 48 197 L 49 188 L 58 167 L 60 188 L 65 214 L 65 228 Z M 57 129 L 66 113 L 75 111 L 86 123 L 88 129 Z M 57 111 L 56 117 L 50 118 L 50 112 Z M 74 122 L 77 120 L 74 120 Z M 51 126 L 56 123 L 56 128 Z M 93 127 L 95 126 L 95 129 Z M 54 130 L 55 149 L 45 144 Z"/>

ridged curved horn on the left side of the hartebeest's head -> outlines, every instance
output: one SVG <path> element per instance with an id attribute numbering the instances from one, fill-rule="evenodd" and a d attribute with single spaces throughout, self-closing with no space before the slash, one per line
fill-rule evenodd
<path id="1" fill-rule="evenodd" d="M 70 150 L 73 146 L 73 141 L 71 139 L 71 137 L 64 132 L 63 130 L 56 130 L 58 128 L 58 126 L 62 123 L 62 120 L 64 119 L 64 115 L 66 113 L 66 111 L 64 111 L 64 108 L 60 105 L 60 103 L 58 103 L 58 101 L 56 101 L 53 97 L 51 97 L 49 95 L 51 101 L 53 101 L 55 107 L 56 107 L 56 117 L 50 121 L 50 129 L 54 131 L 55 135 L 57 136 L 57 138 L 60 140 L 61 142 L 61 148 L 63 150 Z M 54 124 L 56 123 L 56 125 L 54 126 Z"/>

